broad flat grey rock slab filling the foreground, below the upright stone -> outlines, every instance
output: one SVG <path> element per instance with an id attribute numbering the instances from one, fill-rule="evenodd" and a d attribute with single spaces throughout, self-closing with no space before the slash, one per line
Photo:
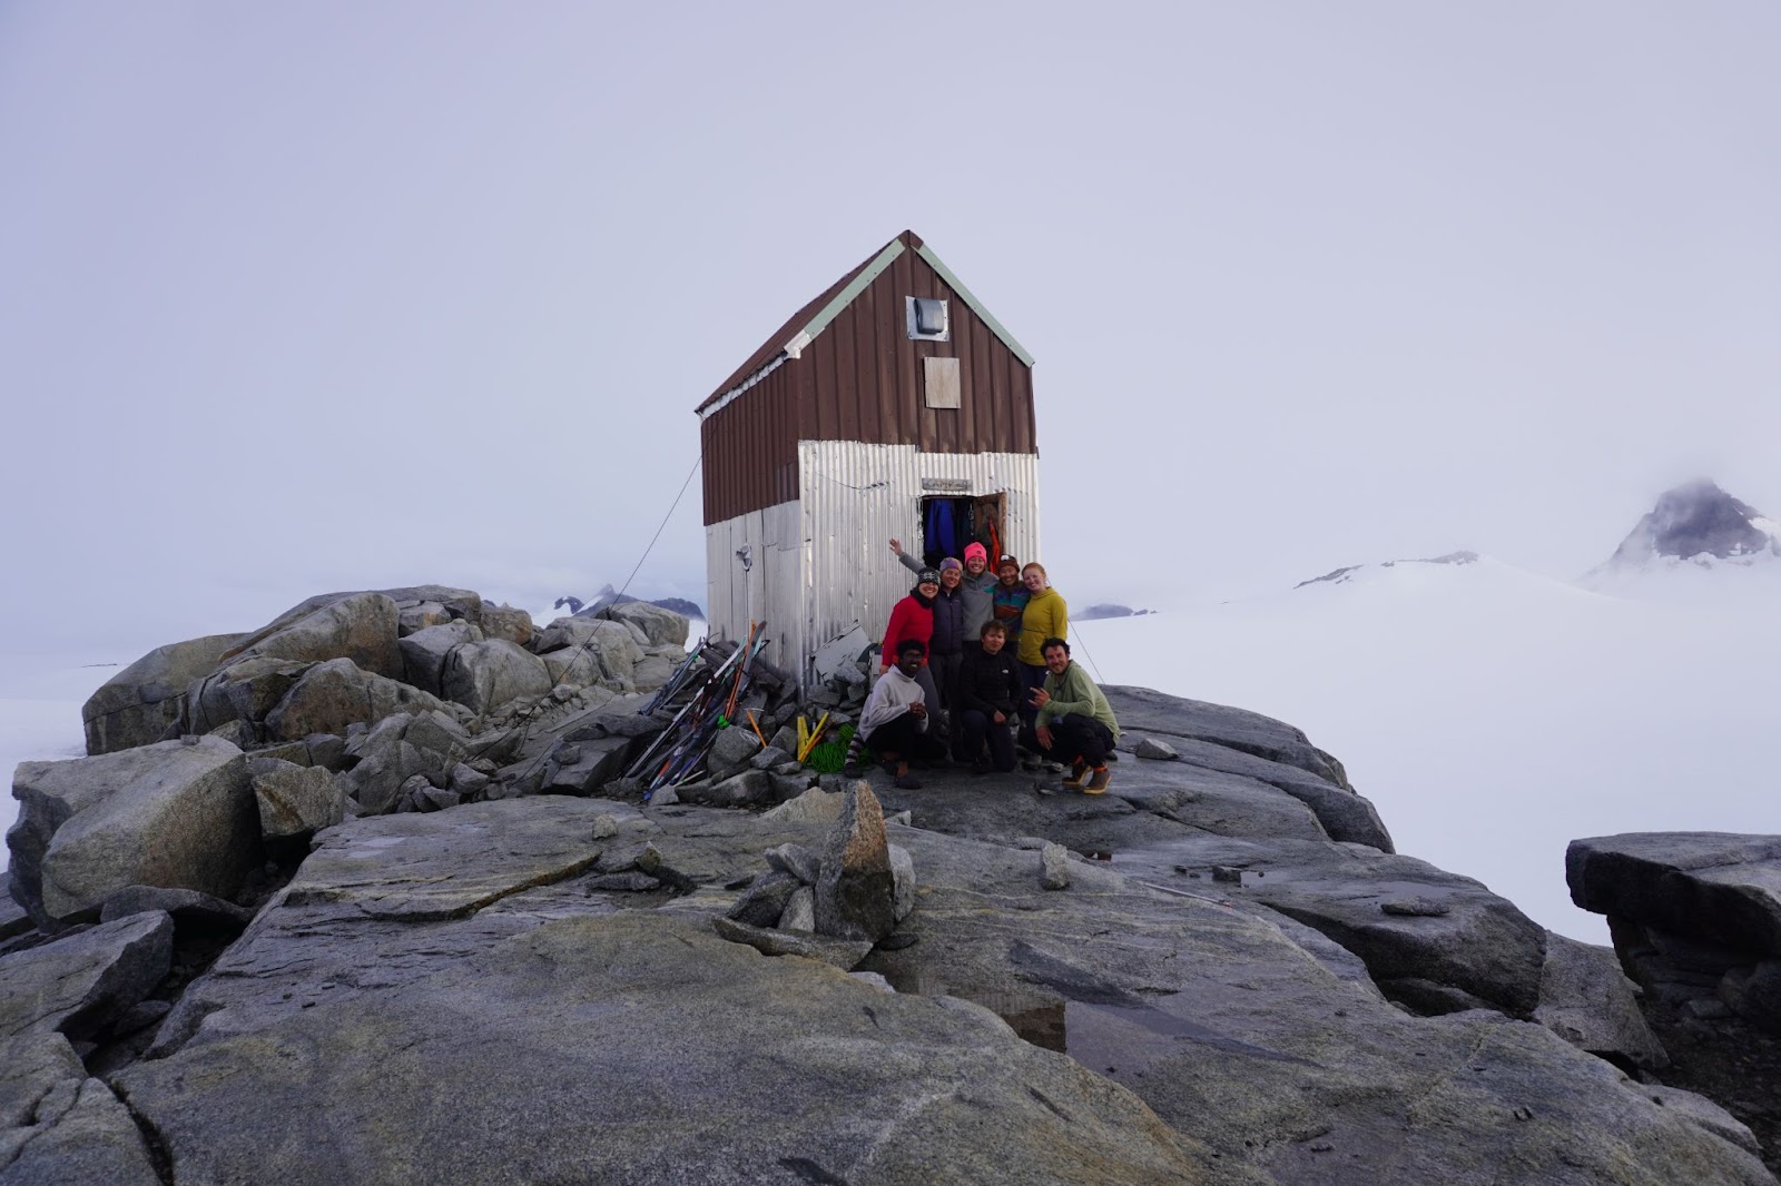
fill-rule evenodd
<path id="1" fill-rule="evenodd" d="M 588 800 L 349 821 L 116 1090 L 175 1181 L 1772 1182 L 1704 1101 L 1539 1026 L 1409 1017 L 1266 906 L 1097 862 L 1045 890 L 1033 849 L 899 828 L 915 942 L 721 917 L 834 826 Z M 645 839 L 691 892 L 586 889 Z"/>

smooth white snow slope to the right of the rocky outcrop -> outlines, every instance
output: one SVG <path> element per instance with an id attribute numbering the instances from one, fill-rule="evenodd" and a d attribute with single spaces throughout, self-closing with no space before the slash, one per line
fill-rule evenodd
<path id="1" fill-rule="evenodd" d="M 1400 851 L 1565 935 L 1564 848 L 1781 830 L 1781 621 L 1603 597 L 1491 557 L 1395 561 L 1245 602 L 1079 623 L 1106 682 L 1304 728 Z"/>

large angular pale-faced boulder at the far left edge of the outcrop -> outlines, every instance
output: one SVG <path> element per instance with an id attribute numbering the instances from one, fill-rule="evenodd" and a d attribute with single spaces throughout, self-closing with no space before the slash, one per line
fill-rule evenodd
<path id="1" fill-rule="evenodd" d="M 125 885 L 232 898 L 260 860 L 246 759 L 216 737 L 21 762 L 12 798 L 12 896 L 45 928 L 98 917 Z"/>

